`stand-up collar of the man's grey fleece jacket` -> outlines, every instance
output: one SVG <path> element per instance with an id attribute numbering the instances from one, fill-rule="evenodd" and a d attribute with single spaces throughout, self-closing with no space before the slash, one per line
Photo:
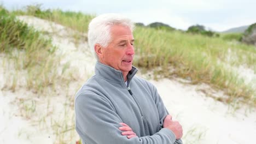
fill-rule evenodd
<path id="1" fill-rule="evenodd" d="M 137 73 L 138 69 L 132 66 L 132 69 L 127 74 L 128 82 L 131 81 L 132 77 Z M 108 81 L 124 83 L 123 73 L 120 70 L 116 70 L 108 65 L 96 62 L 95 75 L 100 76 Z"/>

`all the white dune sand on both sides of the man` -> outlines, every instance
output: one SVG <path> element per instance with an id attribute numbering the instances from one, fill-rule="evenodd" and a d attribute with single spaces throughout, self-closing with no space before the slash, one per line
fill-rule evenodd
<path id="1" fill-rule="evenodd" d="M 53 34 L 53 43 L 59 47 L 62 70 L 69 63 L 69 71 L 75 79 L 66 89 L 58 88 L 56 95 L 37 95 L 25 88 L 16 92 L 1 90 L 8 82 L 5 64 L 0 67 L 0 143 L 75 143 L 78 135 L 74 130 L 56 137 L 56 131 L 74 124 L 73 95 L 77 88 L 94 73 L 95 59 L 89 53 L 87 44 L 80 41 L 78 46 L 70 37 L 76 33 L 56 23 L 31 16 L 21 16 L 29 25 Z M 62 37 L 60 37 L 62 35 Z M 83 34 L 81 34 L 83 35 Z M 3 65 L 4 55 L 0 55 Z M 142 75 L 147 77 L 146 75 Z M 232 110 L 232 107 L 206 97 L 198 89 L 206 85 L 184 85 L 176 80 L 153 81 L 173 118 L 183 125 L 184 143 L 252 143 L 256 141 L 256 111 L 248 108 Z M 68 94 L 66 94 L 68 93 Z M 221 93 L 217 93 L 221 94 Z M 220 95 L 223 97 L 223 95 Z M 21 103 L 21 101 L 24 101 Z M 35 112 L 33 107 L 35 106 Z M 25 111 L 24 107 L 31 109 Z M 59 127 L 56 127 L 59 125 Z M 68 129 L 67 128 L 67 129 Z M 64 137 L 64 138 L 63 138 Z"/>

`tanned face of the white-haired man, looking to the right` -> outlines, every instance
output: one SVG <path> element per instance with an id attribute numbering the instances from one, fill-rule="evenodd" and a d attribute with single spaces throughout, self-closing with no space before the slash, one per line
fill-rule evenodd
<path id="1" fill-rule="evenodd" d="M 102 49 L 100 62 L 123 73 L 132 69 L 134 56 L 133 35 L 129 27 L 114 25 L 110 29 L 112 41 Z"/>

